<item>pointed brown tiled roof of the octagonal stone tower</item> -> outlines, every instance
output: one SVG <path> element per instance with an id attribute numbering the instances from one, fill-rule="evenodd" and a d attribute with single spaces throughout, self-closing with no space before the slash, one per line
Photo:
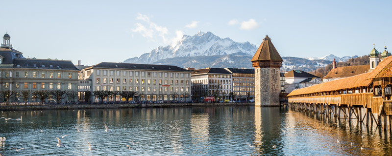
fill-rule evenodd
<path id="1" fill-rule="evenodd" d="M 280 57 L 278 51 L 273 46 L 270 37 L 266 35 L 266 38 L 263 39 L 259 49 L 257 49 L 256 54 L 254 54 L 251 61 L 280 61 L 283 62 L 283 59 Z"/>

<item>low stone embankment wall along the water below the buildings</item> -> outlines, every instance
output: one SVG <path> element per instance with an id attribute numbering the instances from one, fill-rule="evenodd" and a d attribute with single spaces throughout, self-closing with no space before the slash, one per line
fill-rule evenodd
<path id="1" fill-rule="evenodd" d="M 1 105 L 1 111 L 51 110 L 51 109 L 105 109 L 148 107 L 192 107 L 192 106 L 242 106 L 254 103 L 153 103 L 153 104 L 65 104 L 65 105 Z"/>

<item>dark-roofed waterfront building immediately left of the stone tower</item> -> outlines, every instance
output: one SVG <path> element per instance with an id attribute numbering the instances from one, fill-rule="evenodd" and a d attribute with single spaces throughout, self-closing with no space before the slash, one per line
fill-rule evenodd
<path id="1" fill-rule="evenodd" d="M 236 95 L 235 100 L 254 99 L 254 69 L 224 69 L 226 69 L 232 74 L 232 91 Z"/>

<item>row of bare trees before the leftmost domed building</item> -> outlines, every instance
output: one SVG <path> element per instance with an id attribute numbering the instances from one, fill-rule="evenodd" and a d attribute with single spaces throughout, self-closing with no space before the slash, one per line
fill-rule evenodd
<path id="1" fill-rule="evenodd" d="M 19 93 L 20 96 L 22 96 L 25 104 L 27 103 L 28 98 L 38 98 L 41 100 L 41 104 L 44 104 L 45 99 L 56 99 L 56 102 L 59 103 L 63 98 L 71 97 L 72 101 L 77 98 L 77 92 L 75 91 L 62 91 L 62 90 L 53 90 L 53 91 L 48 91 L 48 90 L 42 90 L 42 91 L 1 91 L 0 95 L 2 98 L 6 99 L 6 104 L 8 104 L 9 99 L 14 96 L 16 93 Z"/>

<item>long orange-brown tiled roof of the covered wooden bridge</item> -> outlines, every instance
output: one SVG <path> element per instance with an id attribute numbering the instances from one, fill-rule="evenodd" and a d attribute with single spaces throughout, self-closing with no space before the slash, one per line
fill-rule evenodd
<path id="1" fill-rule="evenodd" d="M 319 93 L 319 92 L 336 91 L 341 89 L 350 89 L 356 87 L 367 87 L 372 83 L 373 78 L 386 78 L 386 77 L 392 77 L 391 56 L 381 61 L 377 65 L 377 67 L 371 72 L 359 74 L 348 78 L 341 78 L 333 81 L 328 81 L 310 87 L 297 89 L 292 91 L 288 95 L 288 97 L 303 95 L 303 94 Z"/>

